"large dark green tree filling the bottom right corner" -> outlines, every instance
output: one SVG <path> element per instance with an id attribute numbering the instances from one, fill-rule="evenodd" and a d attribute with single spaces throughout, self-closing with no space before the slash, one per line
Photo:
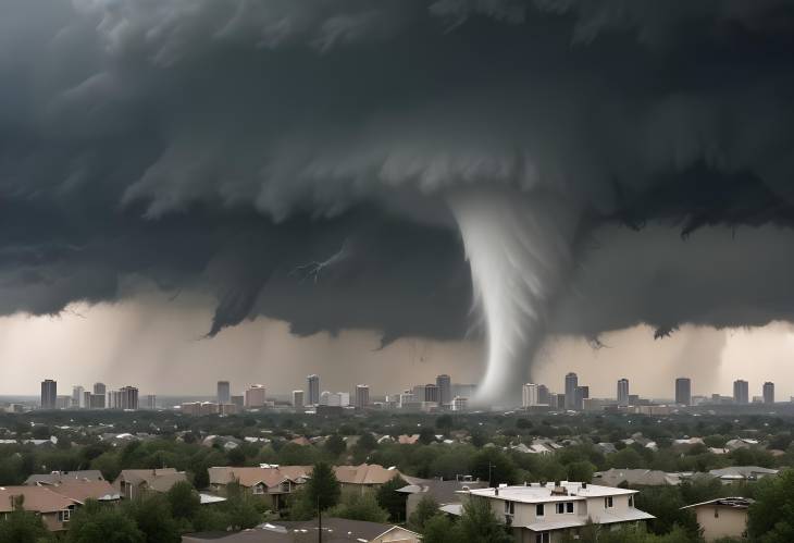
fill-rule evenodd
<path id="1" fill-rule="evenodd" d="M 752 541 L 794 541 L 794 469 L 758 482 L 755 503 L 749 506 L 747 533 Z"/>

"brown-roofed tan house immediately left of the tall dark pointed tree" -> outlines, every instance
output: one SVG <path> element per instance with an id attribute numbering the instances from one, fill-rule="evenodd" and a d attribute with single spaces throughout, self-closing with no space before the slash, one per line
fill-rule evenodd
<path id="1" fill-rule="evenodd" d="M 260 467 L 213 467 L 209 468 L 210 489 L 220 495 L 226 494 L 226 485 L 238 483 L 255 496 L 270 502 L 273 510 L 286 505 L 286 496 L 306 483 L 311 474 L 311 466 Z"/>

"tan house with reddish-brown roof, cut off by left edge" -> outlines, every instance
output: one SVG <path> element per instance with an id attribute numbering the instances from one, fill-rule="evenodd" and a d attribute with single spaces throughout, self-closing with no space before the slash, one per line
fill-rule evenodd
<path id="1" fill-rule="evenodd" d="M 79 505 L 46 486 L 0 486 L 0 518 L 8 517 L 17 502 L 26 511 L 40 515 L 47 529 L 53 532 L 69 528 L 72 513 Z"/>

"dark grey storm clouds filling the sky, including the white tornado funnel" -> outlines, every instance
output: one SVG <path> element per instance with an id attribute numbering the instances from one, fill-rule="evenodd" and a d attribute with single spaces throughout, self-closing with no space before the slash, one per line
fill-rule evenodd
<path id="1" fill-rule="evenodd" d="M 7 323 L 185 304 L 496 391 L 557 336 L 794 320 L 790 1 L 1 9 Z"/>

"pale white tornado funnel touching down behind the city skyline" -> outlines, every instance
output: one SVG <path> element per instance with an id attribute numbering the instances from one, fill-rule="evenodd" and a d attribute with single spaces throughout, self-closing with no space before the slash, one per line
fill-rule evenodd
<path id="1" fill-rule="evenodd" d="M 472 404 L 506 407 L 531 379 L 549 303 L 571 268 L 575 207 L 555 196 L 466 190 L 448 198 L 471 268 L 472 313 L 486 341 Z"/>

